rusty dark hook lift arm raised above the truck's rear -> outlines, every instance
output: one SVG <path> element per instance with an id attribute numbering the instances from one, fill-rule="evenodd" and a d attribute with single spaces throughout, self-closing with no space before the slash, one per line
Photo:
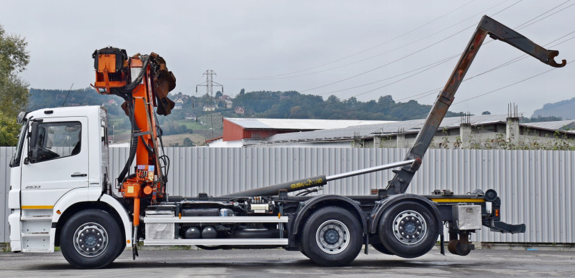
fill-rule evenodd
<path id="1" fill-rule="evenodd" d="M 469 44 L 467 44 L 467 47 L 461 55 L 459 62 L 457 62 L 457 66 L 455 66 L 455 69 L 451 73 L 444 89 L 439 92 L 439 95 L 426 118 L 426 122 L 423 124 L 421 131 L 419 131 L 415 138 L 413 147 L 409 152 L 407 152 L 405 161 L 414 160 L 414 163 L 405 165 L 401 167 L 400 170 L 394 170 L 396 175 L 387 184 L 387 195 L 405 193 L 407 188 L 410 186 L 410 182 L 412 181 L 415 172 L 419 170 L 421 159 L 423 158 L 423 155 L 426 154 L 431 140 L 439 128 L 439 124 L 441 124 L 449 106 L 453 103 L 453 97 L 455 92 L 457 92 L 457 88 L 459 88 L 459 85 L 463 81 L 471 62 L 473 62 L 477 51 L 479 51 L 479 47 L 487 35 L 491 36 L 494 40 L 507 42 L 513 47 L 524 51 L 526 54 L 537 58 L 537 60 L 540 60 L 551 67 L 563 67 L 567 64 L 566 60 L 562 60 L 562 63 L 560 64 L 556 63 L 554 60 L 554 58 L 558 56 L 559 51 L 544 49 L 535 44 L 535 42 L 525 38 L 524 35 L 521 35 L 516 31 L 513 31 L 508 26 L 484 15 L 479 22 L 475 33 L 473 33 Z"/>

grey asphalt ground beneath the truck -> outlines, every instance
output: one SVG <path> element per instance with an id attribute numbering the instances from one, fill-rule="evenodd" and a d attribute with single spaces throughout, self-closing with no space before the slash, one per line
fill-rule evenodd
<path id="1" fill-rule="evenodd" d="M 574 251 L 437 250 L 402 259 L 370 250 L 347 267 L 323 268 L 285 250 L 126 250 L 108 268 L 80 270 L 54 254 L 0 253 L 0 277 L 575 277 Z"/>

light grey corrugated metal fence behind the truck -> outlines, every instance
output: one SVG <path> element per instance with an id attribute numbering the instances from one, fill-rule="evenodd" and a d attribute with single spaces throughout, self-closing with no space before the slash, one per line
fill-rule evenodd
<path id="1" fill-rule="evenodd" d="M 8 193 L 8 161 L 13 148 L 0 148 L 0 191 Z M 168 193 L 225 195 L 316 174 L 337 174 L 400 161 L 407 149 L 330 148 L 167 148 L 171 159 Z M 111 177 L 126 161 L 126 148 L 112 148 Z M 483 229 L 473 240 L 513 243 L 575 243 L 575 152 L 430 149 L 410 193 L 435 189 L 464 194 L 494 188 L 502 199 L 502 218 L 525 223 L 525 234 L 496 234 Z M 324 194 L 363 195 L 383 188 L 391 171 L 333 181 Z M 0 195 L 1 196 L 1 195 Z M 4 197 L 5 202 L 7 197 Z M 8 241 L 8 210 L 0 208 L 0 242 Z M 1 214 L 0 214 L 1 215 Z"/>

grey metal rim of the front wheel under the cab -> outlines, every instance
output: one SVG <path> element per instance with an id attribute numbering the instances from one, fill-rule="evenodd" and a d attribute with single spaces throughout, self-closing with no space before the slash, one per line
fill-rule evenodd
<path id="1" fill-rule="evenodd" d="M 108 233 L 97 223 L 82 224 L 74 233 L 74 248 L 82 256 L 99 256 L 108 247 Z"/>

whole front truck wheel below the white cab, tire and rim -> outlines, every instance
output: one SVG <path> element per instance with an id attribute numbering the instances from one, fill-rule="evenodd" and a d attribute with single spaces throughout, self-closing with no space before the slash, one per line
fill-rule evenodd
<path id="1" fill-rule="evenodd" d="M 104 268 L 122 254 L 122 234 L 112 215 L 88 209 L 64 223 L 60 249 L 68 263 L 78 268 Z"/>

